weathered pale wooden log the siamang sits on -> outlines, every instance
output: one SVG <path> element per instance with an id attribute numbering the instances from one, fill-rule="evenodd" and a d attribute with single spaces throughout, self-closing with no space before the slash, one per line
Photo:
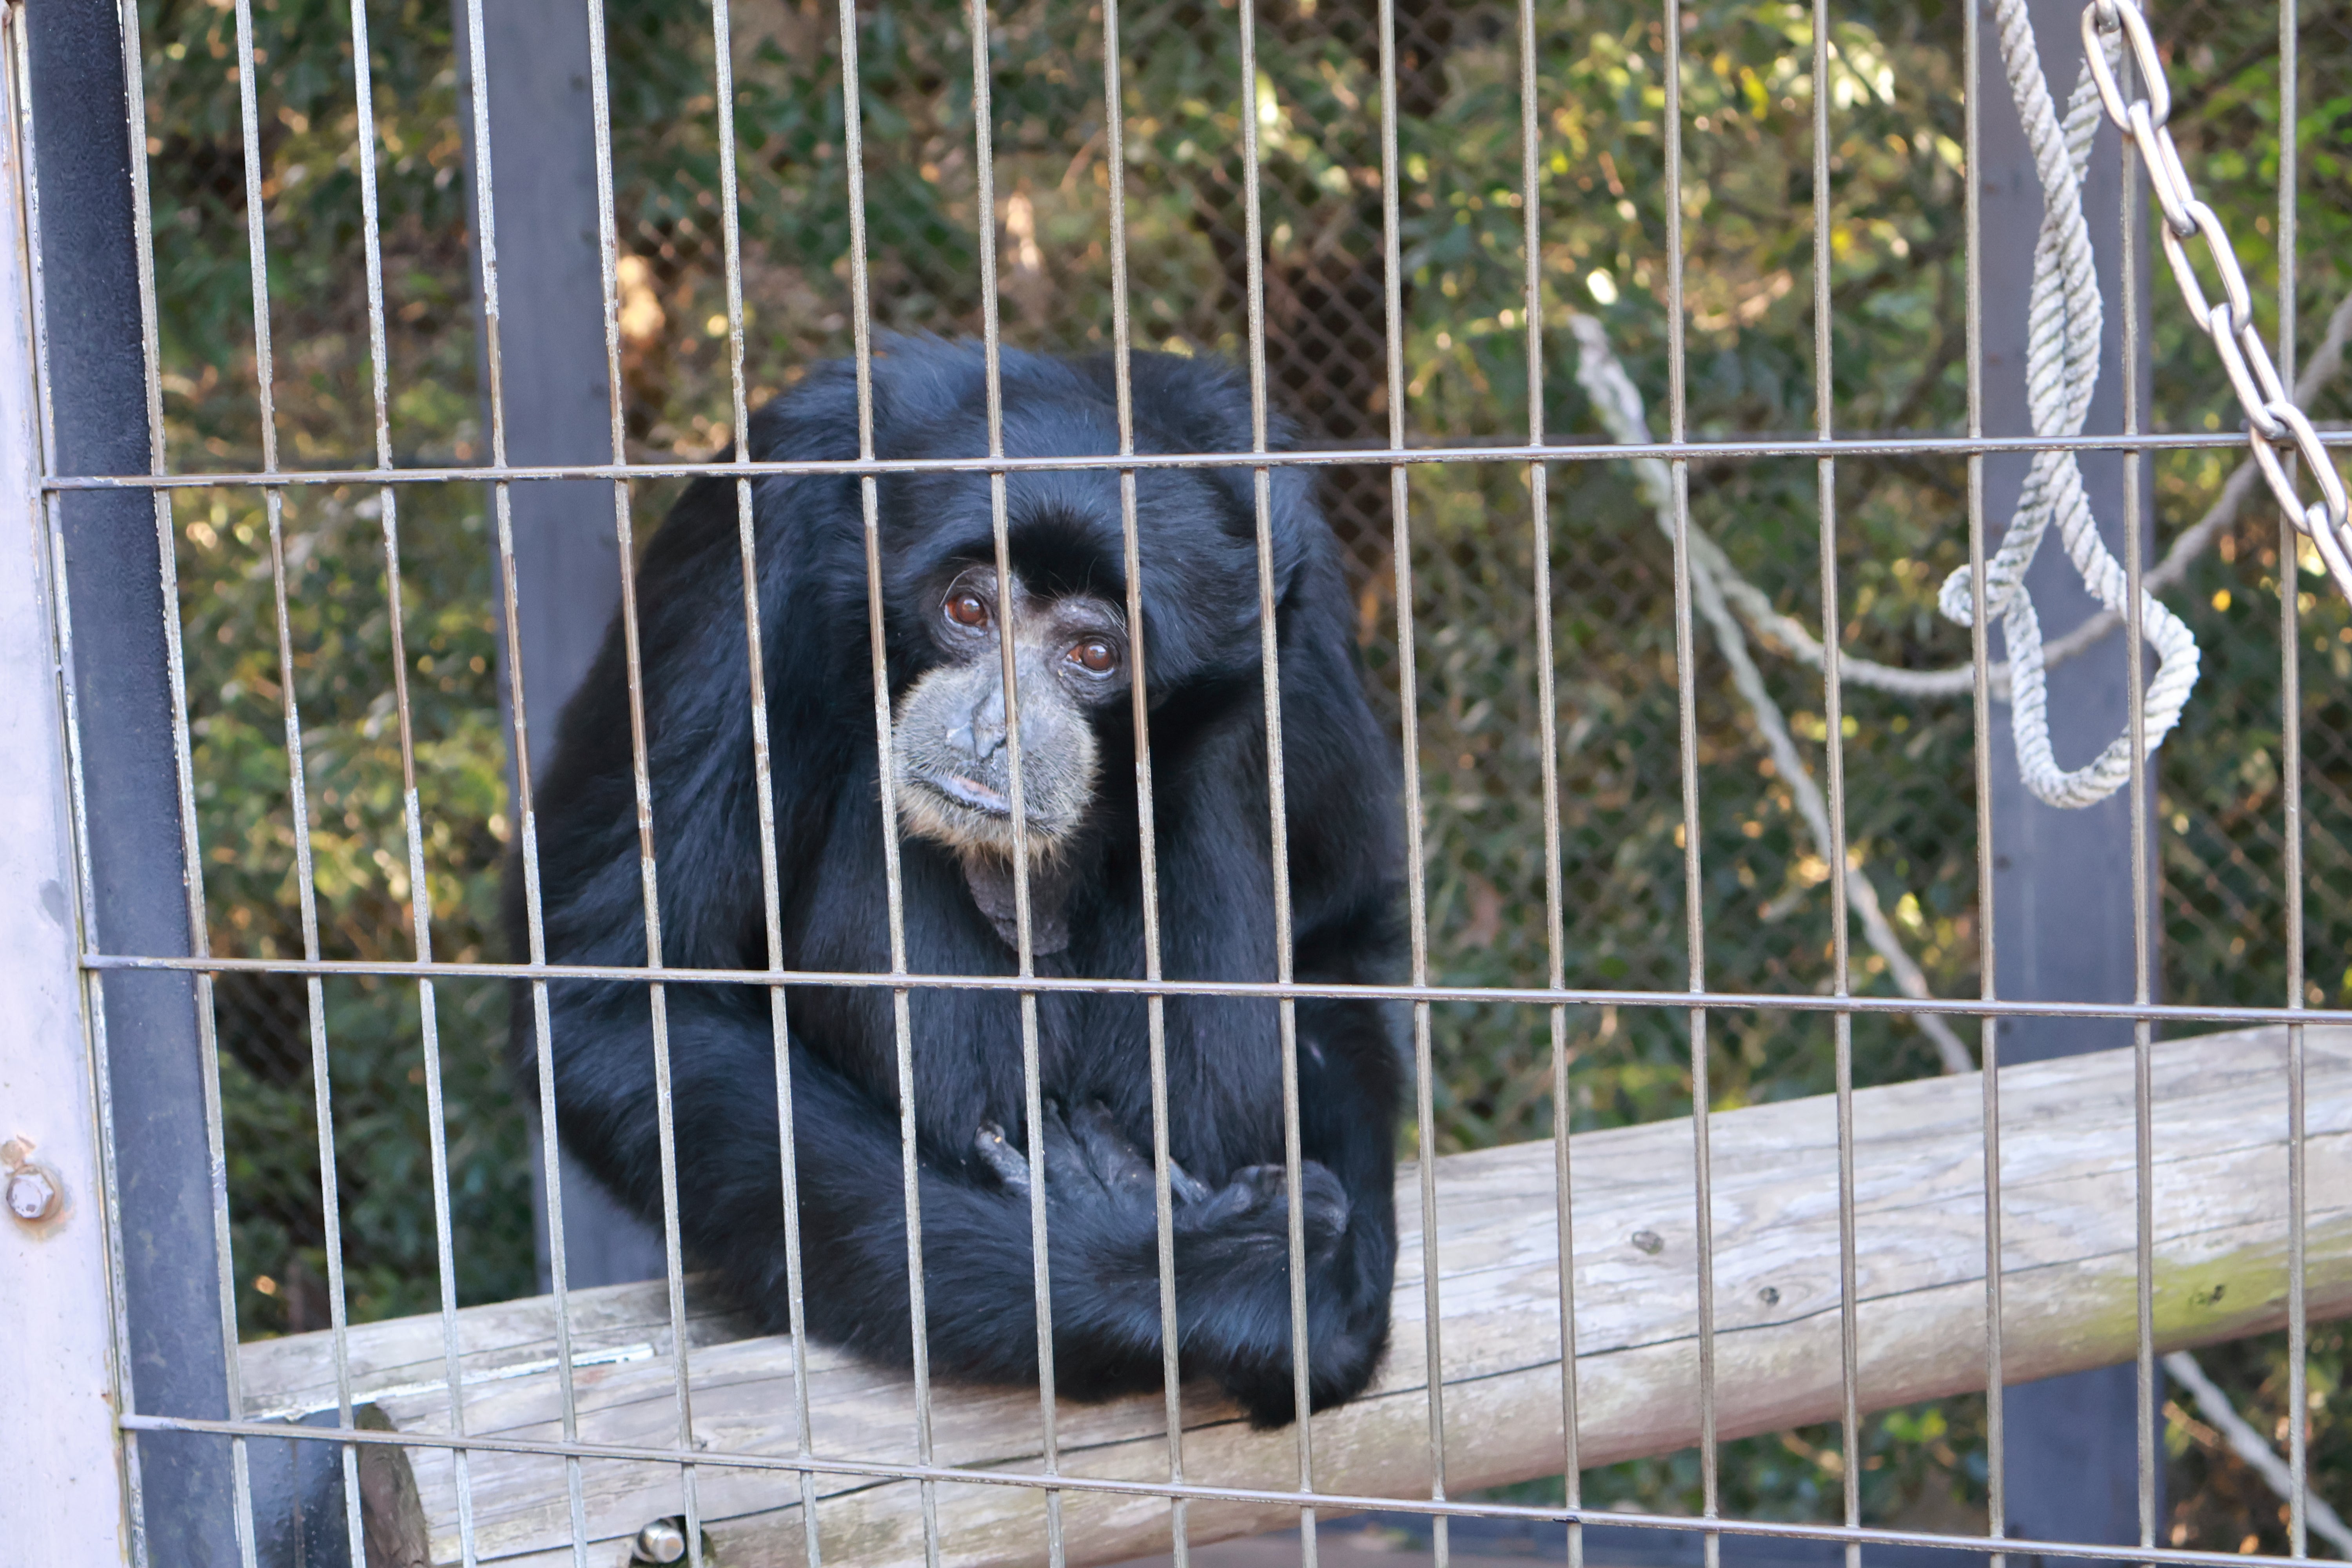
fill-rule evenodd
<path id="1" fill-rule="evenodd" d="M 2307 1034 L 2310 1314 L 2352 1314 L 2352 1030 Z M 2105 1051 L 2002 1074 L 2004 1349 L 2011 1380 L 2129 1361 L 2136 1349 L 2133 1053 Z M 1985 1164 L 1978 1074 L 1853 1095 L 1860 1401 L 1865 1410 L 1983 1387 Z M 1743 1436 L 1839 1410 L 1837 1121 L 1830 1098 L 1717 1112 L 1717 1422 Z M 1583 1465 L 1668 1453 L 1698 1439 L 1696 1222 L 1691 1121 L 1578 1133 L 1573 1161 L 1576 1380 Z M 1555 1150 L 1529 1143 L 1437 1161 L 1442 1366 L 1449 1490 L 1562 1469 L 1559 1253 Z M 2157 1349 L 2286 1321 L 2286 1034 L 2244 1030 L 2154 1048 Z M 1322 1490 L 1428 1497 L 1421 1201 L 1397 1182 L 1404 1232 L 1395 1338 L 1369 1394 L 1315 1418 Z M 823 1291 L 811 1279 L 809 1291 Z M 666 1291 L 572 1295 L 579 1436 L 675 1450 Z M 934 1302 L 934 1312 L 955 1302 Z M 557 1441 L 560 1389 L 548 1300 L 459 1314 L 466 1432 Z M 696 1502 L 727 1568 L 804 1563 L 800 1479 L 717 1455 L 795 1453 L 793 1354 L 689 1288 Z M 915 1401 L 903 1375 L 809 1352 L 814 1450 L 913 1462 Z M 400 1432 L 449 1432 L 437 1316 L 350 1331 L 353 1387 Z M 252 1415 L 334 1408 L 325 1333 L 242 1349 Z M 934 1389 L 941 1465 L 1040 1469 L 1035 1392 Z M 1287 1490 L 1291 1432 L 1249 1432 L 1207 1389 L 1185 1392 L 1185 1476 Z M 1169 1479 L 1157 1394 L 1061 1408 L 1061 1469 Z M 459 1561 L 456 1469 L 447 1448 L 409 1448 L 433 1561 Z M 487 1563 L 572 1561 L 564 1460 L 473 1453 L 470 1512 Z M 626 1561 L 649 1521 L 684 1512 L 682 1472 L 656 1460 L 583 1460 L 590 1561 Z M 922 1561 L 917 1483 L 818 1476 L 826 1563 Z M 1169 1502 L 1063 1493 L 1073 1563 L 1164 1552 Z M 1296 1521 L 1277 1505 L 1188 1507 L 1195 1542 Z M 938 1486 L 941 1561 L 1033 1563 L 1044 1495 Z"/>

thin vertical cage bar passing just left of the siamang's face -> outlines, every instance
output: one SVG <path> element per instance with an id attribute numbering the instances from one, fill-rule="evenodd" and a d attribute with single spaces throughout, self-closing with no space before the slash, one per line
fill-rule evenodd
<path id="1" fill-rule="evenodd" d="M 858 82 L 856 0 L 840 0 L 842 21 L 842 167 L 849 179 L 849 329 L 856 339 L 858 458 L 875 456 L 873 277 L 866 263 L 866 120 Z M 866 517 L 866 646 L 875 677 L 875 757 L 882 795 L 882 886 L 889 898 L 889 971 L 906 969 L 906 879 L 898 863 L 898 785 L 889 743 L 889 646 L 882 628 L 882 508 L 873 475 L 858 475 Z M 913 1324 L 915 1462 L 931 1465 L 931 1331 L 922 1288 L 922 1168 L 915 1150 L 915 1025 L 906 987 L 891 987 L 891 1039 L 898 1072 L 898 1171 L 906 1204 L 906 1288 Z M 938 1483 L 917 1481 L 922 1556 L 938 1568 Z"/>

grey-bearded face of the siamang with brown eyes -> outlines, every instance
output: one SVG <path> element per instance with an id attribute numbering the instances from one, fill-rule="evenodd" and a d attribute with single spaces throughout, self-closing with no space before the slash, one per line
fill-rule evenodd
<path id="1" fill-rule="evenodd" d="M 1049 860 L 1094 797 L 1094 710 L 1127 693 L 1127 614 L 1096 595 L 1033 595 L 1014 576 L 1009 604 L 1021 708 L 1021 804 L 1030 860 Z M 898 701 L 891 759 L 908 832 L 967 856 L 1014 853 L 1011 750 L 1004 736 L 1004 651 L 997 574 L 967 567 L 929 607 L 948 663 Z"/>

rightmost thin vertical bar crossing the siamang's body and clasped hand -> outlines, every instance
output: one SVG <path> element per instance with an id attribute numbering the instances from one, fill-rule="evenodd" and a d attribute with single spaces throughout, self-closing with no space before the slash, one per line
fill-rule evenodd
<path id="1" fill-rule="evenodd" d="M 1247 249 L 1249 306 L 1249 449 L 1263 454 L 1265 407 L 1265 200 L 1261 193 L 1258 115 L 1258 5 L 1237 0 L 1235 26 L 1242 40 L 1242 244 Z M 1275 632 L 1275 522 L 1272 470 L 1254 468 L 1258 515 L 1258 663 L 1265 689 L 1265 795 L 1268 839 L 1275 879 L 1275 978 L 1289 985 L 1291 952 L 1291 830 L 1289 795 L 1282 778 L 1282 656 Z M 1291 1215 L 1291 1401 L 1298 1410 L 1298 1490 L 1315 1490 L 1315 1422 L 1308 1413 L 1308 1234 L 1301 1199 L 1298 1147 L 1298 1004 L 1277 1004 L 1282 1051 L 1282 1192 Z M 1298 1509 L 1298 1552 L 1303 1568 L 1315 1568 L 1315 1509 Z"/>

